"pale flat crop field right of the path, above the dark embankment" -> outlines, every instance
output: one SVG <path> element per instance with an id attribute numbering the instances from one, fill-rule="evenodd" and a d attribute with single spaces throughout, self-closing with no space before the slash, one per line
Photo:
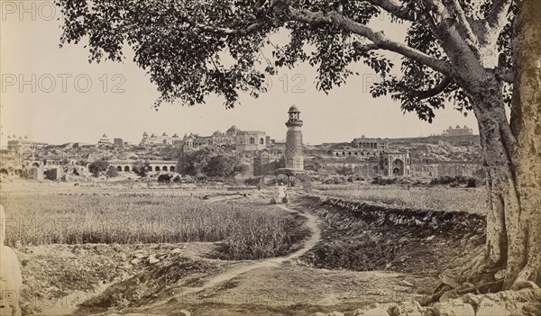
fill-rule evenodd
<path id="1" fill-rule="evenodd" d="M 322 194 L 353 201 L 368 201 L 412 209 L 484 214 L 486 189 L 404 187 L 398 185 L 318 185 Z"/>

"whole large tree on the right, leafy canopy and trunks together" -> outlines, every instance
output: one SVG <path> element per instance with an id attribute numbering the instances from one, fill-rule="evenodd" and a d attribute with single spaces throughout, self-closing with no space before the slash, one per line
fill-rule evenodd
<path id="1" fill-rule="evenodd" d="M 373 96 L 391 95 L 403 111 L 429 122 L 435 109 L 454 101 L 477 119 L 489 188 L 486 248 L 463 267 L 463 280 L 487 281 L 505 269 L 502 288 L 541 285 L 540 0 L 58 3 L 61 41 L 87 37 L 90 60 L 98 61 L 123 60 L 130 46 L 133 61 L 158 86 L 157 106 L 201 104 L 216 94 L 232 107 L 239 91 L 257 97 L 268 74 L 300 62 L 317 68 L 317 88 L 326 92 L 363 62 L 381 75 Z M 382 14 L 408 28 L 406 41 L 371 26 Z M 289 42 L 274 44 L 276 32 L 287 32 Z M 381 50 L 402 56 L 401 76 Z"/>

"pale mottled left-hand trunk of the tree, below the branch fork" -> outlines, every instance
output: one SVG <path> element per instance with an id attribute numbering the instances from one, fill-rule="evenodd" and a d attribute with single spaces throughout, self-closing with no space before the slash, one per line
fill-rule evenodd
<path id="1" fill-rule="evenodd" d="M 515 141 L 501 94 L 501 83 L 493 76 L 483 77 L 467 91 L 474 104 L 481 138 L 481 156 L 488 190 L 486 248 L 481 261 L 461 281 L 492 281 L 506 266 L 509 244 L 508 210 L 518 209 L 513 175 Z"/>

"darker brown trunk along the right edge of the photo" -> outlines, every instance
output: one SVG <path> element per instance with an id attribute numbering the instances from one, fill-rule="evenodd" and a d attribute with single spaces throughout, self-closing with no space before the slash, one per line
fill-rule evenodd
<path id="1" fill-rule="evenodd" d="M 514 25 L 511 129 L 518 148 L 514 176 L 518 208 L 510 210 L 516 248 L 509 248 L 504 288 L 541 284 L 541 2 L 524 0 Z M 509 226 L 509 225 L 508 225 Z"/>

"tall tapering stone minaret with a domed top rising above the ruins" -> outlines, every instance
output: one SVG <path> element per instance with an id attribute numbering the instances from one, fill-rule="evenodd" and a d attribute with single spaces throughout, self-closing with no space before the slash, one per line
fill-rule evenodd
<path id="1" fill-rule="evenodd" d="M 304 169 L 302 152 L 302 120 L 300 120 L 297 106 L 289 108 L 289 120 L 286 122 L 288 134 L 286 136 L 286 167 L 291 169 Z"/>

